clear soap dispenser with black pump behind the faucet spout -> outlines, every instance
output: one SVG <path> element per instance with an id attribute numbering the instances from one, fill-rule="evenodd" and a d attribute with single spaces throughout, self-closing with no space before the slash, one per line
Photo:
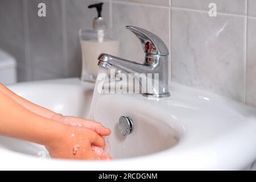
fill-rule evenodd
<path id="1" fill-rule="evenodd" d="M 93 19 L 93 30 L 79 31 L 82 49 L 82 81 L 95 82 L 98 73 L 98 56 L 101 53 L 119 55 L 119 41 L 107 34 L 107 24 L 102 16 L 104 3 L 96 3 L 88 6 L 96 8 L 97 17 Z"/>

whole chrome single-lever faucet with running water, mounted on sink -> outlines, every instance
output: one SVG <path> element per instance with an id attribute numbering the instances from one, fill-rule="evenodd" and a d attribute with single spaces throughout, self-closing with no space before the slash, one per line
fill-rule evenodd
<path id="1" fill-rule="evenodd" d="M 155 84 L 152 84 L 152 92 L 144 90 L 143 96 L 154 98 L 170 97 L 170 93 L 168 92 L 169 51 L 166 44 L 164 44 L 163 40 L 158 36 L 143 28 L 133 26 L 127 26 L 126 28 L 132 31 L 141 41 L 144 52 L 146 53 L 144 64 L 102 53 L 98 57 L 98 65 L 105 68 L 118 68 L 126 73 L 144 73 L 145 75 L 151 75 L 151 77 L 146 76 L 144 78 L 140 77 L 141 79 L 138 78 L 137 80 L 141 85 L 143 79 L 155 80 L 155 78 L 158 77 L 158 88 L 155 88 Z"/>

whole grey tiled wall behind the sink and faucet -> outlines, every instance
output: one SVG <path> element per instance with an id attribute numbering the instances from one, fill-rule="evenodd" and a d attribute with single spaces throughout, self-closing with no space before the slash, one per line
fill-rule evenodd
<path id="1" fill-rule="evenodd" d="M 47 18 L 37 16 L 39 2 L 46 3 Z M 87 6 L 93 2 L 0 1 L 0 48 L 18 60 L 20 81 L 80 75 L 78 31 L 91 27 L 96 13 Z M 143 61 L 139 41 L 125 26 L 146 28 L 170 48 L 172 81 L 256 107 L 256 0 L 104 2 L 103 15 L 121 40 L 122 57 Z M 208 15 L 209 3 L 216 3 L 217 17 Z"/>

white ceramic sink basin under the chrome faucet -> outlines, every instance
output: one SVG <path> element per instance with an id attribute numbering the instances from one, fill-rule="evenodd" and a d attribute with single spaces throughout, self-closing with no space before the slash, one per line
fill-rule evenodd
<path id="1" fill-rule="evenodd" d="M 93 84 L 78 78 L 11 85 L 35 104 L 86 118 Z M 215 94 L 170 83 L 171 97 L 102 94 L 95 119 L 112 129 L 111 162 L 42 160 L 38 144 L 0 137 L 0 169 L 245 169 L 256 159 L 256 110 Z M 132 134 L 118 130 L 122 115 Z"/>

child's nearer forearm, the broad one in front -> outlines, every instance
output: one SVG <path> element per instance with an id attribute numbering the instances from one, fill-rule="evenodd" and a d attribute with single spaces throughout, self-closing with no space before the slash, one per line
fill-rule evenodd
<path id="1" fill-rule="evenodd" d="M 47 146 L 56 142 L 65 126 L 41 117 L 0 92 L 0 135 Z"/>

